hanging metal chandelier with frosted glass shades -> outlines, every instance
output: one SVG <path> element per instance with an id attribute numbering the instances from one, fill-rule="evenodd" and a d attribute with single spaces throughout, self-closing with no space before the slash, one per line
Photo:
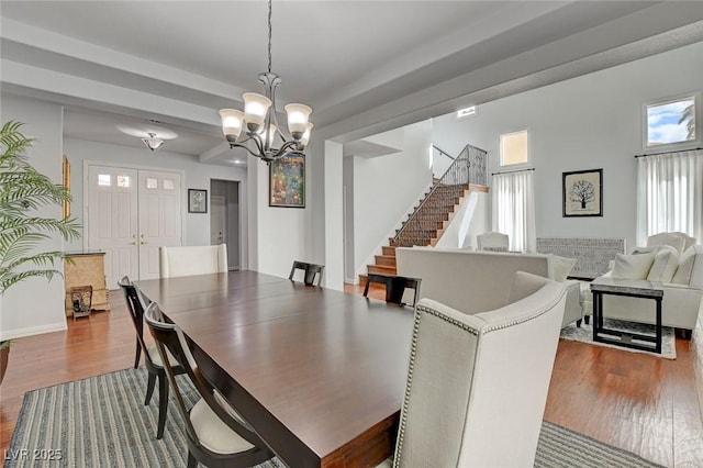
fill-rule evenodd
<path id="1" fill-rule="evenodd" d="M 271 73 L 271 0 L 268 1 L 268 71 L 259 74 L 266 96 L 245 92 L 244 112 L 237 109 L 221 109 L 222 132 L 230 147 L 241 147 L 270 165 L 272 160 L 289 156 L 304 156 L 313 124 L 309 121 L 312 109 L 305 104 L 288 104 L 288 131 L 286 137 L 276 119 L 276 88 L 281 78 Z M 242 131 L 244 130 L 244 135 Z M 239 137 L 242 135 L 242 137 Z M 277 138 L 278 136 L 278 138 Z M 254 142 L 254 145 L 247 144 Z M 277 145 L 280 145 L 277 147 Z M 255 146 L 255 149 L 252 149 Z"/>

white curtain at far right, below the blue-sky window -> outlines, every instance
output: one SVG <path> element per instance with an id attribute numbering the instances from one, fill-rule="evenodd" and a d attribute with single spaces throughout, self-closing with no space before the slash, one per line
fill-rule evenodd
<path id="1" fill-rule="evenodd" d="M 661 232 L 703 242 L 703 151 L 637 159 L 637 245 Z"/>

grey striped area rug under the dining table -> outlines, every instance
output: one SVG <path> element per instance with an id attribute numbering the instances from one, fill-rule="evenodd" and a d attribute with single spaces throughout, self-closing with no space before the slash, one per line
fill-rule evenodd
<path id="1" fill-rule="evenodd" d="M 144 368 L 119 370 L 24 394 L 5 467 L 185 467 L 182 420 L 171 397 L 164 438 L 156 441 L 158 395 L 144 406 Z M 185 376 L 189 403 L 196 390 Z M 53 458 L 53 460 L 49 460 Z M 634 454 L 544 422 L 536 467 L 657 467 Z M 259 468 L 282 468 L 274 458 Z"/>

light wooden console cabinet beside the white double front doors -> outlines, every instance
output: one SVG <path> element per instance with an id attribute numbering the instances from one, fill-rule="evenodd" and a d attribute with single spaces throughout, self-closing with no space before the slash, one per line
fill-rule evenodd
<path id="1" fill-rule="evenodd" d="M 92 287 L 91 310 L 110 311 L 105 285 L 104 252 L 75 252 L 67 254 L 72 261 L 64 261 L 66 283 L 66 316 L 74 314 L 72 291 Z"/>

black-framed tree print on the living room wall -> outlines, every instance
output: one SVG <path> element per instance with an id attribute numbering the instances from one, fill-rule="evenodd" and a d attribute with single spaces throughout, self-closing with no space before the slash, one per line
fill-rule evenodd
<path id="1" fill-rule="evenodd" d="M 563 218 L 603 215 L 603 169 L 562 174 Z"/>

